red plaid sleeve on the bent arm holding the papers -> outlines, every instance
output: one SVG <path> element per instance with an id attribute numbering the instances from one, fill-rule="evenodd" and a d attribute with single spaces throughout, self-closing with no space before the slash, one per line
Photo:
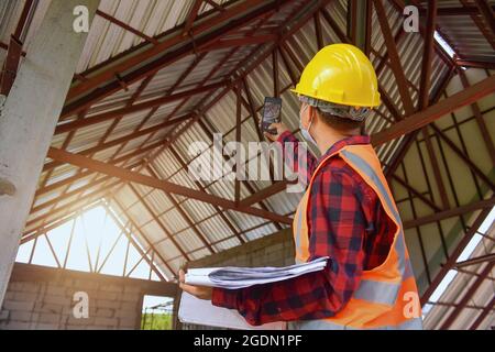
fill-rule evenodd
<path id="1" fill-rule="evenodd" d="M 253 326 L 273 321 L 334 316 L 360 283 L 364 216 L 349 170 L 323 166 L 315 177 L 309 202 L 310 260 L 330 256 L 317 273 L 243 289 L 215 288 L 212 304 L 237 309 Z"/>

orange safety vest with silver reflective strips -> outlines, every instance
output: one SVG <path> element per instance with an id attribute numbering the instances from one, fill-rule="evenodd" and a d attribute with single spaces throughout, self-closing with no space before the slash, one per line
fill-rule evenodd
<path id="1" fill-rule="evenodd" d="M 307 208 L 315 175 L 336 154 L 339 154 L 375 190 L 397 230 L 385 262 L 371 271 L 363 271 L 360 286 L 342 310 L 332 318 L 292 322 L 289 328 L 422 329 L 420 309 L 416 309 L 419 312 L 413 315 L 409 309 L 411 298 L 417 299 L 419 307 L 419 296 L 404 240 L 403 224 L 378 157 L 370 144 L 344 146 L 318 165 L 294 218 L 296 262 L 304 263 L 309 258 Z"/>

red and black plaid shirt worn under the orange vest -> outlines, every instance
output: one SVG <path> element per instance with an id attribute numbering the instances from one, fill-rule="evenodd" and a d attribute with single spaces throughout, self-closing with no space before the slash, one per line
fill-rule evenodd
<path id="1" fill-rule="evenodd" d="M 289 132 L 279 142 L 298 142 Z M 369 144 L 360 135 L 339 141 L 329 155 L 351 144 Z M 297 151 L 294 164 L 297 165 Z M 310 177 L 320 160 L 308 153 Z M 289 162 L 289 161 L 287 161 Z M 309 179 L 309 178 L 308 178 Z M 329 318 L 341 310 L 358 288 L 363 270 L 383 263 L 392 245 L 395 224 L 374 190 L 338 155 L 314 179 L 308 202 L 310 258 L 330 256 L 321 272 L 242 289 L 213 289 L 212 304 L 237 309 L 253 326 L 272 321 Z"/>

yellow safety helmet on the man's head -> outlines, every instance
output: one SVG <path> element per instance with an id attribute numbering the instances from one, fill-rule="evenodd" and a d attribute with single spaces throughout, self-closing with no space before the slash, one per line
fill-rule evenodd
<path id="1" fill-rule="evenodd" d="M 380 106 L 376 74 L 370 59 L 354 45 L 332 44 L 319 51 L 292 91 L 343 106 Z"/>

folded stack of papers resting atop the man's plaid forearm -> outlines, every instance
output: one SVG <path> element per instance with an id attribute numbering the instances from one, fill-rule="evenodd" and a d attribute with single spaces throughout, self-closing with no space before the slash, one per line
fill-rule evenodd
<path id="1" fill-rule="evenodd" d="M 227 289 L 270 284 L 321 271 L 327 266 L 328 258 L 328 256 L 319 257 L 309 263 L 285 267 L 227 266 L 190 268 L 186 274 L 186 284 Z"/>

